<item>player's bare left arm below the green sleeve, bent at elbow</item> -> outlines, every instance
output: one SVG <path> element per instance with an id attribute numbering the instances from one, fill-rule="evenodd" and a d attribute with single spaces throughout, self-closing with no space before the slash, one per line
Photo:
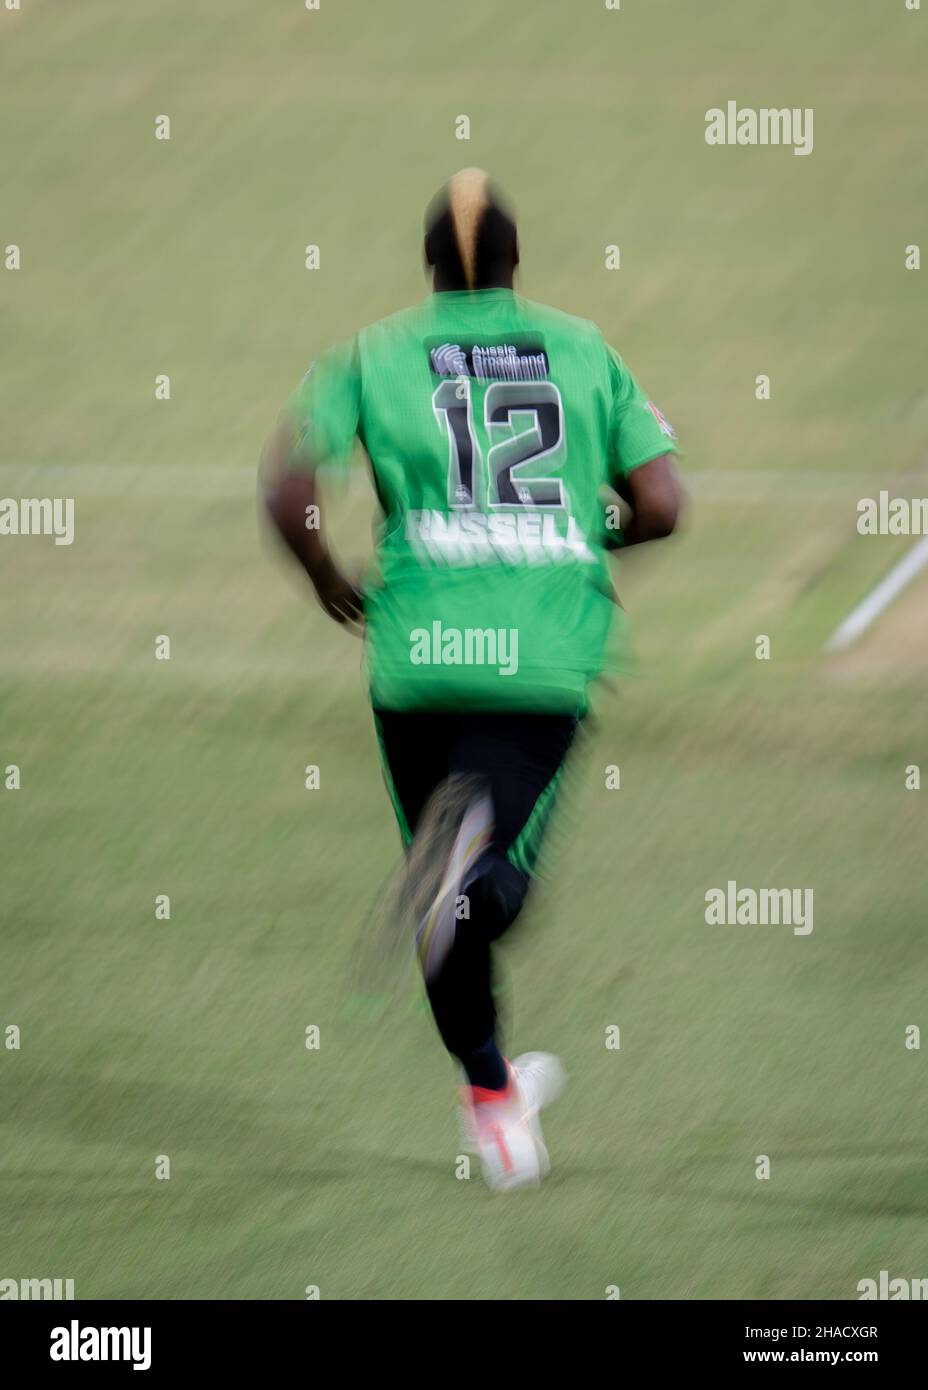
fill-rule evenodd
<path id="1" fill-rule="evenodd" d="M 293 423 L 285 416 L 261 456 L 268 516 L 328 616 L 336 623 L 361 623 L 361 595 L 342 574 L 325 542 L 315 464 L 303 456 L 296 468 L 296 456 Z"/>

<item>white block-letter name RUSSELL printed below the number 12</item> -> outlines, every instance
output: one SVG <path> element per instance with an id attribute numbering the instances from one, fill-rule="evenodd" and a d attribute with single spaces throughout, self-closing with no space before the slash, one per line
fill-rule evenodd
<path id="1" fill-rule="evenodd" d="M 561 564 L 596 563 L 593 550 L 572 516 L 539 512 L 410 512 L 406 538 L 420 553 L 442 564 Z"/>

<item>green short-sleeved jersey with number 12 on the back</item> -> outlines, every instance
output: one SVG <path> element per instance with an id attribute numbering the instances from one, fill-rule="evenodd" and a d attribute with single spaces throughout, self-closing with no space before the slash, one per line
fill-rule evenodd
<path id="1" fill-rule="evenodd" d="M 599 329 L 507 289 L 435 293 L 326 352 L 290 409 L 295 467 L 356 439 L 371 461 L 374 706 L 581 712 L 624 619 L 602 489 L 674 449 Z"/>

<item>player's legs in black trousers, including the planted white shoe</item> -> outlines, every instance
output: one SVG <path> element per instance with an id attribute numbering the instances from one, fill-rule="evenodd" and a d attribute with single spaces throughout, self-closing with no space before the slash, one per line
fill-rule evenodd
<path id="1" fill-rule="evenodd" d="M 422 952 L 436 1026 L 464 1070 L 467 1123 L 493 1187 L 536 1183 L 549 1168 L 538 1112 L 561 1084 L 545 1054 L 510 1066 L 497 1045 L 492 942 L 531 883 L 575 721 L 546 716 L 376 716 L 385 777 L 407 845 L 414 920 L 436 920 Z M 450 923 L 450 931 L 445 930 Z"/>

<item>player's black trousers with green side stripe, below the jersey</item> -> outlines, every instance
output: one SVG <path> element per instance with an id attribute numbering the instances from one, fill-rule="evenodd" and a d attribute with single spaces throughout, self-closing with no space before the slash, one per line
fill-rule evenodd
<path id="1" fill-rule="evenodd" d="M 415 834 L 429 796 L 450 773 L 477 774 L 493 801 L 493 840 L 468 887 L 471 917 L 428 988 L 445 1045 L 467 1065 L 496 1034 L 492 942 L 525 902 L 578 721 L 567 714 L 392 710 L 375 710 L 374 717 L 404 831 Z"/>

